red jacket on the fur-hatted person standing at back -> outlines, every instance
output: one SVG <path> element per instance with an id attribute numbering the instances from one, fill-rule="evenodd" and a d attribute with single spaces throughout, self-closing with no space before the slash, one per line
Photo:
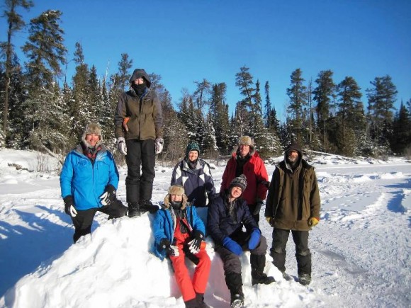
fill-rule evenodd
<path id="1" fill-rule="evenodd" d="M 235 169 L 237 167 L 236 156 L 237 152 L 233 153 L 227 162 L 227 166 L 225 166 L 220 192 L 228 189 L 232 179 L 235 178 Z M 257 152 L 254 152 L 249 161 L 244 164 L 242 172 L 247 178 L 247 188 L 242 192 L 242 198 L 246 200 L 249 205 L 255 204 L 257 199 L 265 200 L 269 175 L 266 171 L 266 166 L 264 166 L 264 161 Z"/>

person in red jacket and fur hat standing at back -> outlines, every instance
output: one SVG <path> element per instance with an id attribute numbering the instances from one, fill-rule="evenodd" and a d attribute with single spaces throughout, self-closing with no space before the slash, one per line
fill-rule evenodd
<path id="1" fill-rule="evenodd" d="M 246 176 L 248 183 L 242 198 L 246 200 L 249 211 L 258 224 L 259 212 L 267 194 L 269 175 L 264 161 L 255 150 L 254 142 L 249 136 L 238 139 L 237 150 L 225 166 L 220 193 L 226 190 L 232 179 L 240 174 Z"/>

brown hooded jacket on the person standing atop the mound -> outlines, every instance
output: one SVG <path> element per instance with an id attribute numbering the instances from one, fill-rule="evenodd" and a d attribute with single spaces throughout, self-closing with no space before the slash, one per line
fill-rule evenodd
<path id="1" fill-rule="evenodd" d="M 145 78 L 148 88 L 142 99 L 132 88 L 118 98 L 116 115 L 114 115 L 117 138 L 145 140 L 162 137 L 162 108 L 157 94 L 150 89 L 149 76 L 144 69 L 135 69 L 130 83 L 140 77 Z M 125 118 L 128 118 L 126 122 L 128 131 L 125 130 L 123 123 Z"/>

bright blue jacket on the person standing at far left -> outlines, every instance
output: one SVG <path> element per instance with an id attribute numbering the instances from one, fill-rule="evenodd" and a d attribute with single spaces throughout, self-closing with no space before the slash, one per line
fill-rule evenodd
<path id="1" fill-rule="evenodd" d="M 99 197 L 108 185 L 117 189 L 118 171 L 105 147 L 97 152 L 94 164 L 83 154 L 80 144 L 67 154 L 60 174 L 60 188 L 62 198 L 72 195 L 77 210 L 102 207 Z"/>

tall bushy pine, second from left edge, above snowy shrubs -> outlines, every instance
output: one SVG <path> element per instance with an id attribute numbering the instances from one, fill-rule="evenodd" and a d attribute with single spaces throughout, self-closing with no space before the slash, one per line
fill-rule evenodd
<path id="1" fill-rule="evenodd" d="M 60 11 L 48 10 L 30 21 L 29 42 L 23 45 L 30 92 L 24 105 L 28 143 L 36 149 L 56 151 L 67 142 L 61 134 L 62 105 L 55 76 L 61 76 L 67 49 L 63 45 Z"/>

